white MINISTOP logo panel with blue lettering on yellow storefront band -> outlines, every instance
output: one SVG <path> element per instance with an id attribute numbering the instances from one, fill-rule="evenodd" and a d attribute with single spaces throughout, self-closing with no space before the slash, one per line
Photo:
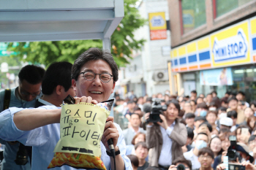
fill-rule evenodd
<path id="1" fill-rule="evenodd" d="M 214 38 L 214 61 L 225 61 L 231 58 L 246 58 L 248 45 L 246 36 L 242 29 L 238 29 L 237 35 L 230 36 L 227 39 L 218 40 Z"/>

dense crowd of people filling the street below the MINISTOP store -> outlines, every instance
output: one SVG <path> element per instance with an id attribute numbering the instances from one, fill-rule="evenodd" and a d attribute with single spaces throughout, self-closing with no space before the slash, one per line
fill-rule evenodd
<path id="1" fill-rule="evenodd" d="M 185 169 L 221 170 L 233 146 L 240 155 L 235 162 L 256 169 L 256 101 L 247 103 L 244 92 L 222 98 L 216 91 L 205 96 L 196 90 L 190 96 L 168 90 L 165 95 L 131 94 L 123 99 L 115 93 L 114 112 L 128 122 L 123 131 L 133 169 L 176 170 L 181 163 Z M 163 109 L 159 120 L 151 109 L 156 98 Z"/>

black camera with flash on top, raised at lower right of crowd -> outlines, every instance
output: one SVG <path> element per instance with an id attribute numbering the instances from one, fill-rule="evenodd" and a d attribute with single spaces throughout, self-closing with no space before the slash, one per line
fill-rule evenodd
<path id="1" fill-rule="evenodd" d="M 230 136 L 230 147 L 228 147 L 227 150 L 227 157 L 228 161 L 236 161 L 238 158 L 238 161 L 241 161 L 241 155 L 239 152 L 236 151 L 237 144 L 236 144 L 236 136 Z"/>

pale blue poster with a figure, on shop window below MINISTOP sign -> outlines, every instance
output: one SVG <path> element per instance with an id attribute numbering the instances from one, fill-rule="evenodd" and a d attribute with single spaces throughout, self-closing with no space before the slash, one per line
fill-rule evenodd
<path id="1" fill-rule="evenodd" d="M 233 85 L 231 68 L 200 71 L 200 85 Z"/>

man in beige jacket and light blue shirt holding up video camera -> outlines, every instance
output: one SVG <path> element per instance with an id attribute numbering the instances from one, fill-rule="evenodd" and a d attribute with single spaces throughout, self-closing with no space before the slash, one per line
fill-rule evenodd
<path id="1" fill-rule="evenodd" d="M 149 166 L 169 169 L 172 162 L 182 155 L 181 147 L 187 142 L 187 128 L 178 121 L 180 105 L 178 101 L 167 102 L 164 115 L 159 114 L 162 121 L 149 122 L 146 126 L 146 144 L 148 146 Z M 146 113 L 146 120 L 150 113 Z"/>

